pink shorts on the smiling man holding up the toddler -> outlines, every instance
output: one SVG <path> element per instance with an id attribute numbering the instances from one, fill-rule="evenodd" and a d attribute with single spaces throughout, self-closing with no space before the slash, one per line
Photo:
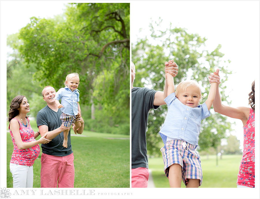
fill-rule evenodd
<path id="1" fill-rule="evenodd" d="M 41 188 L 74 187 L 74 155 L 47 155 L 41 157 Z"/>

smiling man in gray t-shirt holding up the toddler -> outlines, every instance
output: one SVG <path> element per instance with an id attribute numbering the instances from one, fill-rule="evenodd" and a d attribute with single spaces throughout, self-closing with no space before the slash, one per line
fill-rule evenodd
<path id="1" fill-rule="evenodd" d="M 63 131 L 70 129 L 62 124 L 61 110 L 55 104 L 56 91 L 53 87 L 47 86 L 42 90 L 42 97 L 47 106 L 42 108 L 36 117 L 37 126 L 41 136 L 47 134 L 46 138 L 51 140 L 42 144 L 41 156 L 41 187 L 74 187 L 74 155 L 71 148 L 70 132 L 68 134 L 68 148 L 62 146 Z M 81 117 L 76 119 L 81 122 L 77 129 L 82 134 L 84 121 Z"/>

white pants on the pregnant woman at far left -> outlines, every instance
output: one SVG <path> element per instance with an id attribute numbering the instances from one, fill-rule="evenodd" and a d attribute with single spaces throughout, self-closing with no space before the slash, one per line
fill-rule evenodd
<path id="1" fill-rule="evenodd" d="M 33 166 L 24 166 L 10 163 L 10 172 L 13 177 L 13 187 L 28 188 L 33 187 L 34 169 Z"/>

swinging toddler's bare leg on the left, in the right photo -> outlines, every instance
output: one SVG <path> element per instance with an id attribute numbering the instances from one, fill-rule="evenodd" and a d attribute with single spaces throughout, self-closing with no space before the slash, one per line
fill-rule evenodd
<path id="1" fill-rule="evenodd" d="M 182 167 L 179 164 L 172 164 L 169 167 L 169 183 L 170 187 L 180 188 L 181 187 L 181 170 Z"/>

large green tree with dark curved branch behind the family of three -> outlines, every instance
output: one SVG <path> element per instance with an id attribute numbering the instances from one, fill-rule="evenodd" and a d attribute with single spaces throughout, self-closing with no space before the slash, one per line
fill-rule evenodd
<path id="1" fill-rule="evenodd" d="M 23 79 L 33 94 L 33 87 L 37 93 L 46 85 L 56 90 L 64 87 L 66 75 L 77 72 L 85 126 L 99 132 L 129 134 L 129 5 L 70 3 L 61 16 L 31 17 L 19 31 L 19 40 L 10 35 L 10 47 L 18 50 L 23 65 L 19 70 L 25 69 L 22 74 L 26 75 L 14 76 L 19 70 L 12 56 L 8 80 Z M 9 88 L 15 90 L 14 84 Z"/>

